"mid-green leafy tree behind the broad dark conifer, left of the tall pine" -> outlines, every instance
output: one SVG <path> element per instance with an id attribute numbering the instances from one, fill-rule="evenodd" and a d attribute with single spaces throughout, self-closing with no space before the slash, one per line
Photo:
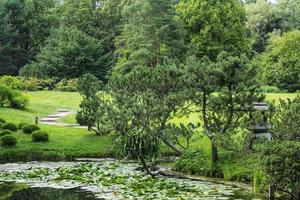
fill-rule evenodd
<path id="1" fill-rule="evenodd" d="M 127 0 L 66 0 L 58 9 L 62 26 L 74 26 L 103 44 L 110 70 L 115 64 L 115 38 L 120 35 L 121 10 Z M 99 56 L 103 56 L 99 55 Z"/>

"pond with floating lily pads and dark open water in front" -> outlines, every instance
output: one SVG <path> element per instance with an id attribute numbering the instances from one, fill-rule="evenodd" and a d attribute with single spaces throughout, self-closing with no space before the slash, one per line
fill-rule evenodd
<path id="1" fill-rule="evenodd" d="M 0 200 L 252 200 L 251 191 L 209 181 L 157 177 L 137 163 L 29 162 L 0 165 Z"/>

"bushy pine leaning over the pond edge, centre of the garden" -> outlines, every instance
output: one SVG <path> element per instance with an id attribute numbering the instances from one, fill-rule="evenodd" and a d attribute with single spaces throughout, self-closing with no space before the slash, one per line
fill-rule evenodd
<path id="1" fill-rule="evenodd" d="M 177 155 L 184 151 L 174 143 L 183 135 L 173 140 L 175 134 L 169 137 L 168 130 L 189 98 L 186 80 L 183 69 L 164 64 L 136 66 L 126 74 L 114 74 L 109 81 L 112 103 L 108 110 L 116 131 L 114 141 L 123 152 L 139 158 L 146 170 L 145 159 L 157 155 L 162 142 Z"/>

